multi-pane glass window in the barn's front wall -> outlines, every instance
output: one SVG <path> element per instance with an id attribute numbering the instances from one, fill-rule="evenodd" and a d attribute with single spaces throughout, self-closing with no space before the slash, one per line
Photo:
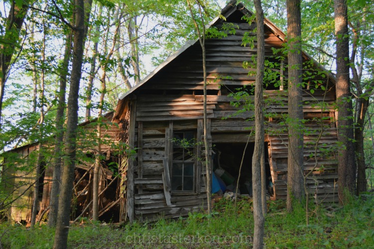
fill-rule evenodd
<path id="1" fill-rule="evenodd" d="M 172 191 L 193 191 L 194 151 L 193 131 L 174 132 Z"/>

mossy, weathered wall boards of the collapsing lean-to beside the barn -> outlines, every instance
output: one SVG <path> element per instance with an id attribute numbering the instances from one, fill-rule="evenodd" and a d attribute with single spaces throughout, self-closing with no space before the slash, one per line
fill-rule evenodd
<path id="1" fill-rule="evenodd" d="M 95 153 L 94 140 L 96 139 L 97 123 L 96 119 L 79 125 L 78 145 L 79 153 Z M 113 112 L 104 115 L 101 125 L 101 153 L 109 157 L 113 157 L 113 144 L 119 141 L 119 127 L 113 121 Z M 53 137 L 50 141 L 54 141 Z M 49 206 L 50 191 L 52 186 L 53 175 L 53 151 L 54 144 L 43 144 L 44 153 L 43 164 L 41 168 L 41 178 L 39 180 L 39 207 L 38 210 L 45 210 Z M 36 179 L 35 167 L 37 165 L 39 147 L 37 143 L 24 145 L 19 148 L 12 149 L 4 153 L 4 165 L 2 169 L 2 181 L 5 191 L 9 194 L 8 200 L 15 200 L 10 208 L 7 216 L 15 222 L 29 222 L 31 218 L 31 204 L 33 202 L 34 182 Z M 15 156 L 15 158 L 13 158 Z M 112 159 L 112 158 L 111 158 Z M 87 162 L 76 163 L 76 168 L 91 172 L 92 164 Z M 14 170 L 16 169 L 16 170 Z M 113 172 L 107 168 L 103 168 L 103 180 L 111 179 Z M 89 174 L 88 174 L 89 175 Z M 77 181 L 78 179 L 76 179 Z M 101 186 L 103 189 L 105 184 Z M 89 189 L 89 187 L 88 187 Z M 42 195 L 41 195 L 42 193 Z M 8 201 L 7 200 L 7 201 Z"/>

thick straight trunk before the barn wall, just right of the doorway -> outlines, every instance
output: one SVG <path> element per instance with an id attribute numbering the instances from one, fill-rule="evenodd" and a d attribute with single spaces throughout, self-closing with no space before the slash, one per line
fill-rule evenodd
<path id="1" fill-rule="evenodd" d="M 304 119 L 302 105 L 301 11 L 300 0 L 287 0 L 288 33 L 288 172 L 287 211 L 292 211 L 293 198 L 304 198 L 304 152 L 301 121 Z"/>

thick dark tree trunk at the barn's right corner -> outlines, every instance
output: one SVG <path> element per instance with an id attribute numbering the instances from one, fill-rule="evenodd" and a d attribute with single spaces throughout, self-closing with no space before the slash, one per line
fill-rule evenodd
<path id="1" fill-rule="evenodd" d="M 336 96 L 338 105 L 338 141 L 345 149 L 338 153 L 339 203 L 347 194 L 355 194 L 356 161 L 353 145 L 353 113 L 350 92 L 349 37 L 347 1 L 334 0 L 335 35 L 337 41 Z"/>

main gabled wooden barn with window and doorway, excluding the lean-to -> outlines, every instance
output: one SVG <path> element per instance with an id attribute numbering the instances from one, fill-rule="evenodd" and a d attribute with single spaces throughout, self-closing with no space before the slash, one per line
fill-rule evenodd
<path id="1" fill-rule="evenodd" d="M 210 27 L 222 35 L 205 41 L 206 137 L 203 136 L 202 52 L 197 40 L 187 42 L 118 102 L 113 119 L 119 129 L 112 131 L 113 138 L 128 144 L 135 152 L 121 151 L 116 158 L 120 175 L 117 192 L 112 199 L 105 197 L 110 201 L 102 203 L 101 208 L 104 211 L 112 208 L 119 221 L 174 218 L 204 208 L 207 204 L 202 163 L 204 139 L 211 148 L 209 163 L 213 178 L 222 185 L 221 190 L 230 190 L 231 185 L 239 182 L 241 194 L 251 194 L 255 68 L 250 65 L 256 56 L 253 32 L 256 24 L 243 18 L 253 13 L 236 1 L 223 8 L 221 15 L 225 18 L 217 17 Z M 263 104 L 267 184 L 271 199 L 285 199 L 287 57 L 281 49 L 286 40 L 285 34 L 268 19 L 264 21 L 264 30 L 268 61 Z M 243 39 L 252 40 L 253 46 L 244 45 Z M 307 180 L 308 189 L 316 200 L 337 201 L 337 160 L 329 149 L 337 141 L 334 77 L 304 52 L 303 61 L 304 170 L 313 170 Z M 241 97 L 233 97 L 235 94 Z"/>

